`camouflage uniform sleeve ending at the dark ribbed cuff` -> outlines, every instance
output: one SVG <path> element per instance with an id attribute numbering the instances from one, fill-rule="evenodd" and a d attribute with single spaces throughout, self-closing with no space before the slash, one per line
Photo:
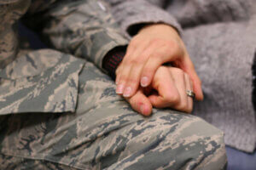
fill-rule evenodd
<path id="1" fill-rule="evenodd" d="M 62 0 L 42 11 L 36 8 L 28 18 L 33 22 L 30 25 L 37 25 L 36 30 L 53 48 L 87 59 L 101 69 L 108 51 L 128 44 L 101 1 Z"/>

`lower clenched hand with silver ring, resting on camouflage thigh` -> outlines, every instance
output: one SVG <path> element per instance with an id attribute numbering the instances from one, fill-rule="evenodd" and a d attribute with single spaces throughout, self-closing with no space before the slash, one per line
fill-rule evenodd
<path id="1" fill-rule="evenodd" d="M 190 113 L 193 110 L 193 99 L 186 91 L 192 89 L 193 83 L 188 74 L 176 67 L 160 66 L 148 88 L 139 88 L 131 98 L 125 99 L 135 111 L 144 116 L 151 114 L 152 107 Z"/>

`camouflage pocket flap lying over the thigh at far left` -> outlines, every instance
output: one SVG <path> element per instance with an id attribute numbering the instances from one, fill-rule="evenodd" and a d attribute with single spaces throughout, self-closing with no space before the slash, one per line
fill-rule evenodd
<path id="1" fill-rule="evenodd" d="M 39 50 L 29 55 L 39 54 L 41 57 L 30 59 L 21 56 L 15 67 L 11 64 L 0 71 L 0 115 L 75 111 L 84 60 L 54 50 Z M 14 76 L 15 68 L 20 69 L 20 75 Z"/>

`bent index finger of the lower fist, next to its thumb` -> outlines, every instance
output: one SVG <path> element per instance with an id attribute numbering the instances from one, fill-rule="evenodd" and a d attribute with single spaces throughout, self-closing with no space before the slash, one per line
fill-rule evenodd
<path id="1" fill-rule="evenodd" d="M 152 84 L 153 88 L 156 89 L 158 93 L 151 94 L 148 96 L 148 99 L 156 108 L 173 107 L 179 103 L 180 96 L 170 71 L 168 71 L 168 69 L 160 71 L 160 69 L 156 72 L 158 77 L 156 80 L 154 79 Z"/>

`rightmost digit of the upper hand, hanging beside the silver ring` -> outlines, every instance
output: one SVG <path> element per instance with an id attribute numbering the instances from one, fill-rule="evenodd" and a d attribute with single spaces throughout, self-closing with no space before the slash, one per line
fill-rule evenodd
<path id="1" fill-rule="evenodd" d="M 184 57 L 183 61 L 179 64 L 179 67 L 191 78 L 194 85 L 193 91 L 195 93 L 195 99 L 202 100 L 204 96 L 201 89 L 201 80 L 196 74 L 195 66 L 193 65 L 193 62 L 189 58 L 188 54 L 186 54 L 186 56 L 187 57 Z"/>

